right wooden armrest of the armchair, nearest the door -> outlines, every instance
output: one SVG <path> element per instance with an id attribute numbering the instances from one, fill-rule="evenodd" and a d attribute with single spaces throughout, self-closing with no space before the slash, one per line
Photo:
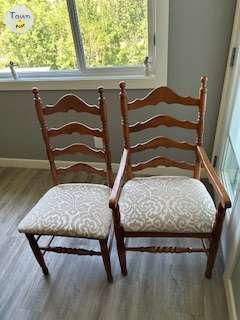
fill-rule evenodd
<path id="1" fill-rule="evenodd" d="M 231 206 L 232 206 L 231 200 L 227 194 L 227 191 L 226 191 L 224 185 L 220 181 L 215 169 L 213 168 L 213 165 L 211 164 L 210 160 L 208 159 L 206 151 L 204 150 L 203 147 L 197 146 L 197 152 L 198 152 L 198 156 L 202 162 L 202 165 L 203 165 L 204 169 L 206 170 L 208 178 L 213 185 L 214 191 L 217 193 L 217 195 L 220 199 L 221 205 L 223 206 L 223 208 L 231 208 Z"/>

